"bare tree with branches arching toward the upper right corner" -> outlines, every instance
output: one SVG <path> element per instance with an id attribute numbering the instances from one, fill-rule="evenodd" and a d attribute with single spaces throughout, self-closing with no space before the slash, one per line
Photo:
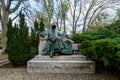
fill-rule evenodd
<path id="1" fill-rule="evenodd" d="M 116 3 L 120 1 L 115 0 L 89 0 L 89 8 L 86 10 L 84 15 L 84 22 L 83 22 L 83 30 L 85 32 L 87 29 L 91 27 L 91 25 L 98 25 L 96 24 L 96 20 L 105 20 L 105 17 L 108 17 L 106 13 L 107 10 L 115 8 Z M 109 22 L 109 21 L 108 21 Z M 95 23 L 95 24 L 94 24 Z M 101 22 L 103 25 L 104 23 Z"/>

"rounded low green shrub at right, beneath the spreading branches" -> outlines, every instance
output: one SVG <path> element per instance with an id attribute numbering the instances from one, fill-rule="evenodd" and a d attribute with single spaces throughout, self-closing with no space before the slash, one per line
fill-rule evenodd
<path id="1" fill-rule="evenodd" d="M 95 56 L 101 58 L 106 66 L 111 65 L 116 54 L 116 40 L 108 38 L 96 40 L 94 48 Z"/>

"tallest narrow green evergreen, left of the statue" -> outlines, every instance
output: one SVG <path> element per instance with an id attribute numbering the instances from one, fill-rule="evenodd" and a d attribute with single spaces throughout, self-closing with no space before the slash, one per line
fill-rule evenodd
<path id="1" fill-rule="evenodd" d="M 21 64 L 26 64 L 29 59 L 29 34 L 28 27 L 25 22 L 25 15 L 20 12 L 19 22 L 19 36 L 18 36 L 18 53 Z"/>

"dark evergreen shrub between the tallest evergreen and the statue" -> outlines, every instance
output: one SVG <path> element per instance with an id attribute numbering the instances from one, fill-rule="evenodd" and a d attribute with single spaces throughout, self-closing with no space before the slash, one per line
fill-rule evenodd
<path id="1" fill-rule="evenodd" d="M 30 36 L 30 58 L 35 57 L 38 54 L 38 45 L 39 45 L 39 33 L 44 31 L 44 23 L 41 19 L 40 24 L 35 20 L 34 27 L 31 28 Z"/>

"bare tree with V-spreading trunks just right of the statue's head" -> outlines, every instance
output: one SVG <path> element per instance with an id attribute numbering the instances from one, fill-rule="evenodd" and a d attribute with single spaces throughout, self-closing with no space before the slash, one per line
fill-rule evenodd
<path id="1" fill-rule="evenodd" d="M 77 29 L 77 22 L 79 21 L 79 18 L 82 14 L 84 2 L 82 0 L 68 0 L 68 2 L 70 7 L 70 14 L 72 17 L 72 34 L 75 34 Z"/>

